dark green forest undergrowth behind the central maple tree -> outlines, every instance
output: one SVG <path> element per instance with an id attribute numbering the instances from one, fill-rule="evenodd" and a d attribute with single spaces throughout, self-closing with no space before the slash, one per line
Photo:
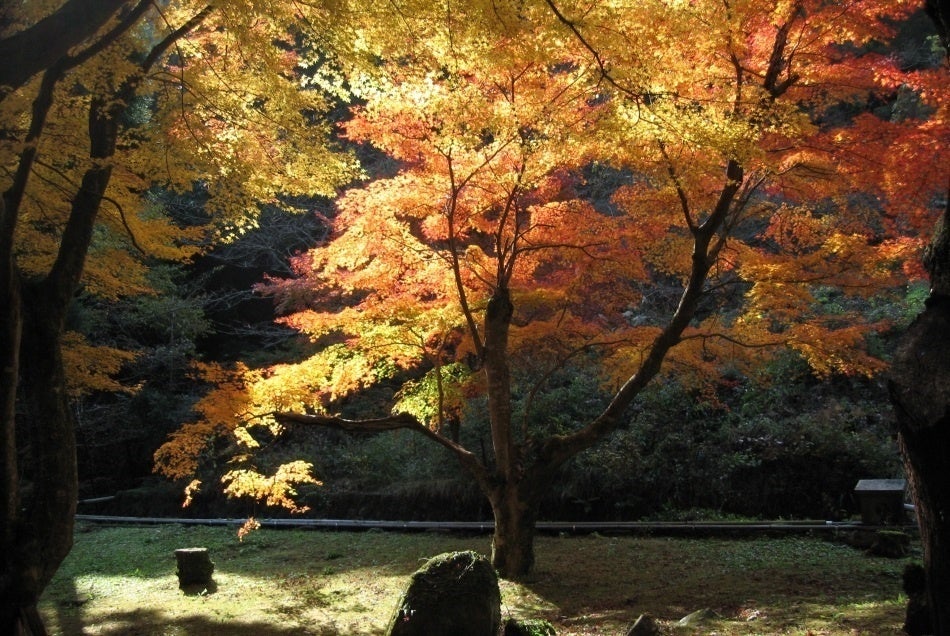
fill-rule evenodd
<path id="1" fill-rule="evenodd" d="M 302 247 L 301 237 L 319 238 L 321 228 L 307 217 L 274 212 L 265 215 L 259 231 L 194 268 L 163 272 L 167 295 L 120 306 L 77 305 L 75 324 L 98 343 L 141 352 L 122 376 L 126 383 L 141 384 L 134 394 L 92 393 L 75 402 L 81 499 L 118 495 L 82 505 L 81 511 L 287 514 L 279 507 L 228 500 L 213 490 L 182 508 L 182 484 L 153 474 L 155 449 L 203 394 L 192 372 L 196 357 L 266 363 L 293 359 L 306 347 L 296 333 L 273 323 L 271 301 L 251 287 L 265 273 L 284 271 L 281 260 Z M 269 244 L 275 236 L 287 243 Z M 922 307 L 926 291 L 923 284 L 912 285 L 906 298 L 876 302 L 866 311 L 891 320 L 897 333 Z M 833 306 L 842 299 L 829 296 L 826 302 Z M 886 355 L 889 334 L 879 336 L 876 346 Z M 840 519 L 856 510 L 852 490 L 858 479 L 902 474 L 893 415 L 879 378 L 816 378 L 795 354 L 763 374 L 754 379 L 736 374 L 715 396 L 672 382 L 655 387 L 623 430 L 564 469 L 544 517 Z M 558 413 L 565 422 L 610 397 L 581 365 L 565 368 L 557 386 L 538 410 Z M 393 391 L 384 385 L 348 400 L 347 415 L 378 412 Z M 479 405 L 471 408 L 470 417 L 478 417 Z M 301 428 L 273 440 L 260 459 L 275 466 L 299 457 L 314 462 L 323 484 L 301 488 L 313 516 L 490 517 L 451 454 L 416 437 Z M 219 450 L 220 469 L 227 449 Z"/>

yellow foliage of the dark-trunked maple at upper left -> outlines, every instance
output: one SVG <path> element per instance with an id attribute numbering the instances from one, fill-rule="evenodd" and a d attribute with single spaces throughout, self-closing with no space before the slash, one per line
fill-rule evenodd
<path id="1" fill-rule="evenodd" d="M 333 19 L 325 7 L 265 0 L 223 3 L 183 33 L 143 74 L 137 60 L 205 9 L 207 3 L 174 0 L 153 8 L 140 25 L 56 86 L 37 158 L 18 216 L 18 267 L 43 276 L 61 249 L 62 231 L 85 171 L 100 164 L 111 178 L 97 215 L 83 284 L 114 299 L 150 290 L 148 259 L 185 260 L 208 238 L 233 238 L 261 203 L 281 205 L 282 195 L 331 195 L 358 173 L 355 161 L 329 147 L 328 129 L 311 113 L 327 104 L 317 91 L 300 90 L 299 59 L 286 43 L 301 37 L 300 24 L 320 31 Z M 55 3 L 12 7 L 4 26 L 31 24 Z M 329 29 L 328 29 L 329 31 Z M 137 78 L 131 100 L 120 87 Z M 6 191 L 25 149 L 30 108 L 39 78 L 2 102 L 0 190 Z M 89 111 L 95 103 L 125 106 L 115 155 L 90 158 Z M 146 202 L 153 187 L 209 194 L 209 227 L 184 227 Z"/>

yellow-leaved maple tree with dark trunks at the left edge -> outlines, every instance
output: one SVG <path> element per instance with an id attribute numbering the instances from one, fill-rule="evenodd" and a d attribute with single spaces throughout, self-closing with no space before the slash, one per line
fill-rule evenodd
<path id="1" fill-rule="evenodd" d="M 329 194 L 350 171 L 314 116 L 324 100 L 299 89 L 297 25 L 327 18 L 301 11 L 187 0 L 3 7 L 3 633 L 44 633 L 35 604 L 72 545 L 69 398 L 116 388 L 109 374 L 132 355 L 67 330 L 74 296 L 155 293 L 149 264 L 227 240 L 284 192 Z M 195 188 L 208 201 L 202 228 L 175 222 L 153 196 Z"/>

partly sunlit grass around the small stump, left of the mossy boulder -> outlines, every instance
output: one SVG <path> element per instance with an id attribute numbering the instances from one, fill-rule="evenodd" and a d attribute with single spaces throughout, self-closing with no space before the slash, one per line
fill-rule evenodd
<path id="1" fill-rule="evenodd" d="M 57 636 L 377 634 L 425 559 L 487 547 L 474 541 L 260 531 L 242 542 L 226 528 L 91 528 L 77 533 L 40 610 Z M 183 546 L 209 549 L 214 586 L 179 585 L 174 551 Z"/>

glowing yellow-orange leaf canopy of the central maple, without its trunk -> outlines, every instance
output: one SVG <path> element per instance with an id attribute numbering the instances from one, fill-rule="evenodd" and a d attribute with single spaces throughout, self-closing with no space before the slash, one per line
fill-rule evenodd
<path id="1" fill-rule="evenodd" d="M 659 329 L 627 324 L 625 313 L 645 286 L 680 284 L 689 273 L 695 228 L 731 185 L 730 161 L 745 177 L 722 250 L 708 256 L 710 285 L 738 277 L 746 306 L 688 329 L 669 366 L 711 372 L 738 351 L 777 346 L 797 321 L 817 320 L 822 285 L 871 294 L 899 280 L 906 243 L 874 240 L 869 219 L 845 203 L 834 149 L 806 143 L 819 131 L 801 104 L 819 80 L 798 60 L 864 37 L 825 29 L 815 17 L 824 7 L 558 3 L 603 56 L 600 67 L 543 3 L 522 3 L 511 21 L 506 3 L 491 5 L 496 12 L 483 2 L 374 6 L 356 27 L 358 48 L 376 63 L 353 78 L 363 102 L 346 133 L 399 160 L 400 171 L 347 192 L 332 240 L 309 255 L 306 293 L 328 300 L 283 322 L 314 342 L 342 343 L 274 370 L 288 395 L 310 387 L 313 398 L 299 406 L 324 408 L 374 381 L 387 357 L 399 368 L 431 364 L 425 343 L 467 328 L 460 297 L 478 321 L 499 287 L 515 301 L 513 356 L 556 358 L 600 335 L 624 343 L 608 376 L 633 373 Z M 880 28 L 854 12 L 865 34 Z M 783 48 L 788 25 L 794 48 Z M 787 59 L 770 68 L 776 53 Z M 565 179 L 594 159 L 630 174 L 609 213 L 575 197 Z M 788 203 L 769 203 L 769 187 Z M 842 203 L 818 213 L 796 197 Z M 762 219 L 768 228 L 748 242 L 727 236 Z M 286 298 L 299 302 L 290 290 Z M 450 319 L 433 322 L 440 311 Z M 457 355 L 473 352 L 468 340 L 459 346 Z M 874 366 L 862 364 L 837 368 Z"/>

